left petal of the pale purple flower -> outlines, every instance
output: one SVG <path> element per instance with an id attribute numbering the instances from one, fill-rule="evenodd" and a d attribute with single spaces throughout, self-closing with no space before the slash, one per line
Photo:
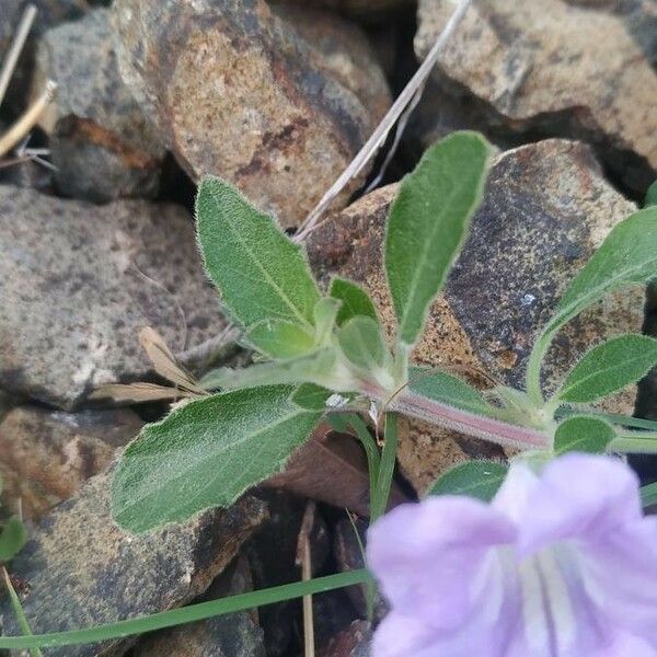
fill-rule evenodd
<path id="1" fill-rule="evenodd" d="M 376 522 L 368 532 L 367 558 L 393 611 L 451 631 L 489 589 L 504 598 L 491 548 L 515 537 L 515 527 L 479 500 L 431 497 Z"/>

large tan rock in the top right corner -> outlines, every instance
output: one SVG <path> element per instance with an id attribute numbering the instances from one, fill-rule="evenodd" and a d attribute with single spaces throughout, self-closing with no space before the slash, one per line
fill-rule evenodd
<path id="1" fill-rule="evenodd" d="M 494 128 L 590 141 L 623 184 L 643 192 L 657 169 L 657 72 L 642 49 L 652 46 L 637 44 L 625 21 L 644 14 L 590 4 L 475 4 L 442 50 L 435 77 L 483 101 Z M 645 14 L 654 13 L 647 7 Z M 451 12 L 451 1 L 420 0 L 420 57 Z"/>

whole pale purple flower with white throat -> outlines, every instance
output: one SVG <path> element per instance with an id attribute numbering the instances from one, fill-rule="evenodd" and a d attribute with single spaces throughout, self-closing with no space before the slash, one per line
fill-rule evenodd
<path id="1" fill-rule="evenodd" d="M 657 519 L 610 457 L 515 463 L 489 505 L 397 507 L 367 555 L 391 604 L 373 657 L 657 656 Z"/>

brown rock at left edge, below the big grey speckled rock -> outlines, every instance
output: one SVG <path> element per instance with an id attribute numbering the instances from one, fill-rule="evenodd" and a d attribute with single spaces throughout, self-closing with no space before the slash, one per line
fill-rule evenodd
<path id="1" fill-rule="evenodd" d="M 103 470 L 142 426 L 128 410 L 61 413 L 20 406 L 0 422 L 0 475 L 5 499 L 21 500 L 36 522 Z"/>

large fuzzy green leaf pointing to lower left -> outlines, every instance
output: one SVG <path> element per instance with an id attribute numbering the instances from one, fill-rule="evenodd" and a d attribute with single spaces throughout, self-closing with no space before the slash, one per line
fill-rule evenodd
<path id="1" fill-rule="evenodd" d="M 123 453 L 112 483 L 116 521 L 132 532 L 230 506 L 279 472 L 321 413 L 270 385 L 204 397 L 148 425 Z"/>

